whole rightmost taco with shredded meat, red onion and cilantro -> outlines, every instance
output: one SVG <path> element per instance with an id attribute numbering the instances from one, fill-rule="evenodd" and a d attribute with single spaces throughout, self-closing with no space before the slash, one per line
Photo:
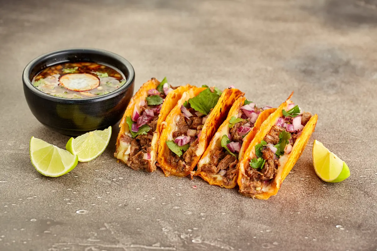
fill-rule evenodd
<path id="1" fill-rule="evenodd" d="M 239 192 L 257 199 L 276 195 L 316 127 L 317 114 L 304 112 L 290 98 L 260 126 L 239 162 Z"/>

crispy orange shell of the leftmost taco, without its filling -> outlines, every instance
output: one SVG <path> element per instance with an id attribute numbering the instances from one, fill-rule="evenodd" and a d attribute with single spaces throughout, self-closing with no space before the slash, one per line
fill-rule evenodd
<path id="1" fill-rule="evenodd" d="M 130 100 L 126 111 L 124 112 L 123 118 L 119 124 L 120 131 L 118 134 L 118 137 L 116 138 L 116 151 L 114 153 L 114 157 L 117 158 L 119 161 L 127 164 L 127 166 L 131 167 L 134 170 L 139 170 L 142 167 L 139 167 L 137 165 L 131 164 L 129 159 L 129 145 L 126 145 L 121 139 L 122 135 L 128 135 L 131 136 L 129 126 L 126 122 L 127 116 L 132 116 L 134 109 L 137 109 L 140 111 L 140 102 L 146 99 L 148 96 L 147 92 L 150 89 L 156 89 L 156 87 L 159 85 L 159 81 L 155 78 L 150 79 L 148 82 L 144 83 L 139 90 L 135 93 L 135 95 Z M 157 125 L 156 125 L 156 131 L 153 132 L 153 138 L 151 142 L 151 150 L 150 160 L 143 160 L 147 162 L 147 167 L 145 170 L 147 172 L 153 172 L 156 170 L 156 158 L 157 158 L 157 144 L 158 139 L 161 133 L 161 123 L 165 121 L 167 115 L 170 113 L 170 110 L 176 105 L 178 100 L 182 97 L 182 94 L 189 90 L 192 86 L 187 84 L 184 86 L 180 86 L 176 88 L 173 91 L 170 91 L 169 94 L 166 96 L 164 103 L 162 103 L 161 111 L 158 115 Z"/>

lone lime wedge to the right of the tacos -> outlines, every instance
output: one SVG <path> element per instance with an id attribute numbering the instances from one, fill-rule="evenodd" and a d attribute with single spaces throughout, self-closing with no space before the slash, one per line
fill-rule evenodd
<path id="1" fill-rule="evenodd" d="M 319 178 L 326 182 L 340 182 L 350 175 L 347 164 L 317 140 L 313 144 L 313 165 Z"/>

